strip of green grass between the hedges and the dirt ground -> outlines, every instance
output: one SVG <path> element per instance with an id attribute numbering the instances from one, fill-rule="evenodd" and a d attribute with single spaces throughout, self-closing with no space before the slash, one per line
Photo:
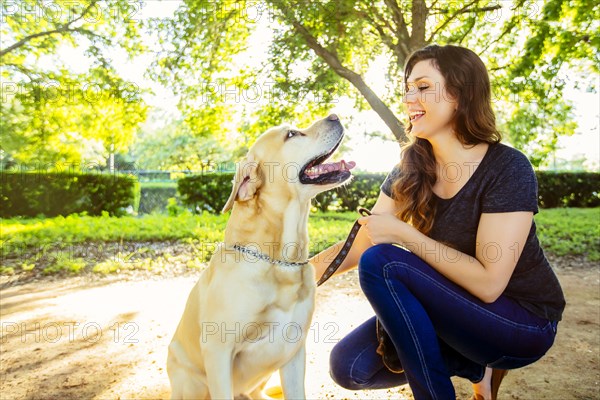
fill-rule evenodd
<path id="1" fill-rule="evenodd" d="M 356 213 L 312 214 L 309 220 L 311 254 L 344 239 L 357 217 Z M 186 212 L 176 216 L 3 219 L 0 220 L 3 261 L 0 274 L 31 271 L 36 265 L 44 274 L 77 274 L 86 267 L 103 274 L 136 268 L 160 270 L 173 260 L 187 268 L 198 268 L 199 260 L 201 263 L 210 257 L 206 245 L 223 240 L 227 218 L 228 215 Z M 600 260 L 600 208 L 544 209 L 536 216 L 536 223 L 546 252 Z M 133 251 L 121 251 L 119 244 L 124 242 L 141 245 Z M 152 242 L 183 243 L 182 247 L 195 250 L 187 259 L 162 253 L 156 257 L 146 245 Z M 117 256 L 93 259 L 81 250 L 86 246 L 95 247 L 97 254 L 117 253 Z M 64 250 L 69 247 L 78 250 Z M 40 253 L 43 262 L 40 262 Z M 88 265 L 89 262 L 92 264 Z"/>

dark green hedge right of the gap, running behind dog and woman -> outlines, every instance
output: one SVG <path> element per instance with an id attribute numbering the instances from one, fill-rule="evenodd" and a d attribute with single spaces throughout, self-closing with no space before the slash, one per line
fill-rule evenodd
<path id="1" fill-rule="evenodd" d="M 539 205 L 597 207 L 600 205 L 600 174 L 593 172 L 536 172 Z M 348 185 L 319 194 L 313 201 L 319 211 L 355 211 L 371 208 L 386 174 L 355 173 Z M 182 203 L 194 212 L 219 212 L 231 191 L 233 173 L 203 174 L 181 178 L 178 191 Z"/>

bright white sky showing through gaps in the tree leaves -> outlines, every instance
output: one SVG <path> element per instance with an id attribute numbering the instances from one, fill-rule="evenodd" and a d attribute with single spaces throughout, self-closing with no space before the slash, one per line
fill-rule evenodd
<path id="1" fill-rule="evenodd" d="M 178 4 L 178 1 L 146 1 L 139 17 L 145 19 L 171 15 L 178 7 Z M 262 18 L 262 21 L 266 20 L 267 18 Z M 259 24 L 258 27 L 258 32 L 253 36 L 248 55 L 241 59 L 244 63 L 262 62 L 261 57 L 256 57 L 256 55 L 264 53 L 268 47 L 268 26 Z M 254 62 L 249 61 L 250 55 L 254 58 Z M 82 60 L 81 52 L 77 50 L 65 49 L 61 57 L 63 60 L 71 61 L 68 62 L 69 65 L 78 65 L 80 69 L 87 67 L 86 62 Z M 143 71 L 145 71 L 152 61 L 150 55 L 138 57 L 133 62 L 130 62 L 127 61 L 124 53 L 115 53 L 114 59 L 117 61 L 116 64 L 119 72 L 125 79 L 136 82 L 140 87 L 149 87 L 154 91 L 154 95 L 145 97 L 148 104 L 166 109 L 174 114 L 177 112 L 176 99 L 171 91 L 154 82 L 148 81 L 142 76 Z M 376 93 L 381 92 L 385 87 L 383 79 L 385 74 L 382 73 L 384 64 L 385 62 L 382 60 L 375 62 L 365 76 L 365 79 Z M 600 77 L 598 76 L 596 77 L 595 86 L 596 89 L 600 88 Z M 599 95 L 597 92 L 587 91 L 587 88 L 567 88 L 565 97 L 573 101 L 575 105 L 578 128 L 574 136 L 560 139 L 561 149 L 556 153 L 556 158 L 572 160 L 583 156 L 586 158 L 584 165 L 587 169 L 599 170 Z M 352 117 L 352 123 L 346 123 L 348 130 L 347 140 L 352 151 L 345 158 L 356 161 L 357 169 L 379 172 L 389 171 L 398 162 L 399 149 L 394 142 L 370 138 L 364 135 L 365 132 L 389 132 L 389 129 L 375 112 L 358 112 L 352 107 L 352 101 L 349 99 L 338 99 L 337 103 L 332 105 L 331 112 L 339 114 L 342 121 L 348 121 Z M 403 118 L 403 116 L 399 117 Z"/>

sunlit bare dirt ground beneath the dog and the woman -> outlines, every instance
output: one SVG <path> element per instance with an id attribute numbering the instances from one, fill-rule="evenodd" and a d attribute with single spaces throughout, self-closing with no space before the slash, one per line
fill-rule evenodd
<path id="1" fill-rule="evenodd" d="M 500 399 L 600 399 L 600 266 L 577 259 L 554 265 L 568 302 L 557 341 L 542 360 L 509 373 Z M 168 398 L 167 346 L 197 275 L 2 277 L 0 398 Z M 352 392 L 329 377 L 333 345 L 371 315 L 355 272 L 319 289 L 308 398 L 412 399 L 408 386 Z M 469 398 L 470 384 L 454 382 L 457 398 Z"/>

